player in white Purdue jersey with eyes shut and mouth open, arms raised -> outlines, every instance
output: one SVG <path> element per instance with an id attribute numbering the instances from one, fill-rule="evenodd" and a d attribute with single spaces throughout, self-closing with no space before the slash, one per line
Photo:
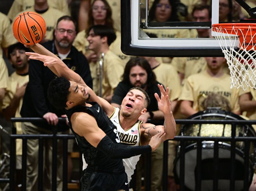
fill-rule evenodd
<path id="1" fill-rule="evenodd" d="M 40 53 L 45 53 L 44 51 Z M 26 53 L 30 55 L 30 59 L 37 59 L 44 62 L 45 66 L 48 66 L 52 72 L 57 73 L 58 76 L 80 82 L 81 77 L 70 70 L 66 65 L 54 55 L 45 56 L 37 53 Z M 45 53 L 46 54 L 46 53 Z M 89 87 L 84 83 L 83 86 L 88 90 Z M 176 123 L 172 115 L 171 102 L 169 99 L 169 88 L 164 90 L 164 87 L 158 85 L 161 91 L 161 99 L 155 93 L 155 97 L 158 103 L 158 109 L 164 113 L 164 125 L 155 126 L 150 123 L 142 123 L 138 118 L 140 115 L 146 113 L 148 103 L 148 95 L 141 88 L 131 88 L 127 95 L 124 97 L 120 110 L 113 107 L 106 100 L 100 97 L 96 97 L 95 94 L 91 94 L 89 101 L 97 101 L 102 109 L 106 112 L 111 121 L 117 127 L 117 131 L 120 136 L 122 144 L 138 146 L 148 145 L 152 136 L 159 132 L 165 132 L 164 141 L 173 139 L 176 133 Z M 130 182 L 131 176 L 135 169 L 135 166 L 139 160 L 139 156 L 123 159 L 125 172 Z"/>

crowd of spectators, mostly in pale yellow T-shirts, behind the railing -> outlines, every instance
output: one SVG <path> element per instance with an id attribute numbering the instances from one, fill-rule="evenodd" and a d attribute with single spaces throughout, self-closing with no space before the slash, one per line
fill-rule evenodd
<path id="1" fill-rule="evenodd" d="M 254 0 L 245 0 L 255 7 Z M 45 124 L 16 123 L 17 134 L 51 134 L 52 126 L 67 134 L 68 126 L 59 124 L 57 111 L 47 99 L 47 88 L 55 75 L 39 61 L 25 55 L 29 51 L 12 36 L 12 21 L 24 11 L 42 15 L 47 29 L 42 45 L 58 55 L 73 71 L 82 76 L 88 86 L 115 107 L 132 87 L 143 88 L 151 98 L 148 111 L 140 120 L 162 120 L 154 93 L 161 96 L 157 84 L 169 87 L 169 97 L 175 118 L 187 118 L 198 111 L 204 98 L 217 93 L 227 99 L 232 112 L 256 119 L 256 90 L 230 89 L 230 75 L 222 57 L 132 57 L 121 51 L 120 0 L 80 0 L 77 20 L 70 16 L 70 1 L 66 0 L 14 0 L 8 15 L 0 13 L 0 116 L 41 117 Z M 184 11 L 185 10 L 185 11 Z M 211 21 L 211 0 L 149 0 L 148 19 L 151 22 Z M 248 13 L 234 0 L 219 0 L 219 21 L 239 21 Z M 76 27 L 78 25 L 78 27 Z M 78 31 L 77 31 L 78 30 Z M 209 38 L 209 29 L 143 29 L 149 37 Z M 102 54 L 103 53 L 103 54 Z M 3 55 L 4 54 L 4 55 Z M 7 57 L 15 72 L 9 76 L 3 56 Z M 99 62 L 103 63 L 99 76 Z M 102 83 L 99 80 L 102 79 Z M 102 85 L 100 87 L 100 84 Z M 100 91 L 102 90 L 102 91 Z M 1 124 L 0 124 L 1 125 Z M 179 131 L 177 131 L 179 134 Z M 22 154 L 21 141 L 16 142 L 16 155 Z M 169 189 L 176 190 L 173 179 L 175 142 L 169 144 Z M 45 149 L 45 180 L 51 182 L 51 143 Z M 163 147 L 152 153 L 152 190 L 161 190 L 161 161 Z M 71 149 L 72 150 L 72 149 Z M 36 190 L 38 141 L 28 141 L 28 190 Z M 61 154 L 61 148 L 58 148 Z M 61 156 L 58 157 L 61 161 Z M 61 166 L 61 162 L 58 163 Z M 142 164 L 140 164 L 142 165 Z M 21 159 L 17 157 L 17 169 Z M 47 169 L 47 168 L 46 168 Z M 61 167 L 59 168 L 61 170 Z M 58 172 L 61 189 L 61 172 Z M 158 178 L 157 178 L 158 177 Z M 45 190 L 51 184 L 45 184 Z"/>

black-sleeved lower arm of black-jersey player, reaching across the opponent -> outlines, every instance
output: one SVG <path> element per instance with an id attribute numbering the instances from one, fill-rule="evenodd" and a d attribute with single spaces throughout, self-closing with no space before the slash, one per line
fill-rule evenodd
<path id="1" fill-rule="evenodd" d="M 114 143 L 97 125 L 94 117 L 87 113 L 77 112 L 71 117 L 73 130 L 80 136 L 83 136 L 93 147 L 101 150 L 110 158 L 130 158 L 151 150 L 157 149 L 164 139 L 165 133 L 159 133 L 153 136 L 147 146 L 127 146 L 118 144 L 120 142 L 118 132 L 113 128 L 116 134 L 116 143 Z"/>

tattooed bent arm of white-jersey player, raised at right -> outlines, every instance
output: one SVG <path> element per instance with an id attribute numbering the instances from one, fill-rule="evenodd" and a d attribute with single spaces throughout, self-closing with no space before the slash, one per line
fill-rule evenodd
<path id="1" fill-rule="evenodd" d="M 158 134 L 159 132 L 165 132 L 164 141 L 168 139 L 173 139 L 176 134 L 176 123 L 172 115 L 171 101 L 169 99 L 169 88 L 164 90 L 163 85 L 158 84 L 158 88 L 161 91 L 161 99 L 157 93 L 155 97 L 158 103 L 159 111 L 164 113 L 164 125 L 155 126 L 150 123 L 144 123 L 140 125 L 140 130 L 142 132 L 142 145 L 148 143 L 152 136 Z"/>

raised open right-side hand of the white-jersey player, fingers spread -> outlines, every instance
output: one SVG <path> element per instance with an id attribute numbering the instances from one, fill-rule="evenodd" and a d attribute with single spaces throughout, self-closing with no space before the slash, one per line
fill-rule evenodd
<path id="1" fill-rule="evenodd" d="M 164 114 L 168 114 L 171 112 L 171 101 L 169 99 L 169 88 L 166 88 L 166 91 L 164 90 L 163 85 L 159 85 L 157 84 L 158 88 L 160 89 L 161 92 L 161 99 L 158 96 L 157 93 L 155 93 L 155 97 L 157 100 L 157 104 L 158 104 L 158 109 L 160 111 L 162 111 Z"/>

